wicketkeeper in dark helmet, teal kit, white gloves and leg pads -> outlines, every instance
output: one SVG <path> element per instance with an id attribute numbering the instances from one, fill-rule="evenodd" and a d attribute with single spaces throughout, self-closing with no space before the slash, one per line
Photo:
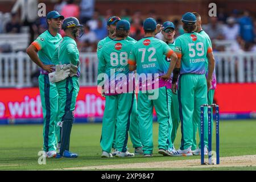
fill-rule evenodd
<path id="1" fill-rule="evenodd" d="M 50 73 L 51 82 L 56 82 L 59 93 L 59 137 L 60 152 L 56 158 L 77 158 L 77 154 L 69 151 L 71 129 L 74 120 L 76 98 L 79 93 L 80 61 L 76 39 L 84 34 L 83 26 L 75 17 L 63 20 L 62 29 L 65 31 L 63 41 L 57 47 L 52 62 L 56 65 L 56 72 Z M 64 70 L 60 75 L 59 68 Z M 70 69 L 70 71 L 69 71 Z"/>

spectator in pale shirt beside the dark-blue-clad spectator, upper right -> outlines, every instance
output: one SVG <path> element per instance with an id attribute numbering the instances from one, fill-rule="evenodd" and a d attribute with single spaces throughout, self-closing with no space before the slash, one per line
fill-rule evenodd
<path id="1" fill-rule="evenodd" d="M 236 40 L 239 35 L 239 25 L 236 23 L 236 19 L 232 16 L 226 19 L 226 23 L 223 25 L 223 35 L 226 40 Z"/>

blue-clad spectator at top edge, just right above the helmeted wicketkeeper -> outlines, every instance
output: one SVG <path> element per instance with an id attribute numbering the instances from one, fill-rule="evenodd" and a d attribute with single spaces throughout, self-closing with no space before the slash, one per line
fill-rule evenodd
<path id="1" fill-rule="evenodd" d="M 93 12 L 94 12 L 94 0 L 82 0 L 80 3 L 81 7 L 81 14 L 80 20 L 82 24 L 86 24 L 88 20 L 92 19 Z"/>

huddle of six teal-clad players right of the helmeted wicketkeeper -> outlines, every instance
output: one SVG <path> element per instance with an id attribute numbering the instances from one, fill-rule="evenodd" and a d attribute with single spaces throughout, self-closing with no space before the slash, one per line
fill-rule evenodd
<path id="1" fill-rule="evenodd" d="M 185 34 L 174 41 L 174 23 L 161 25 L 147 18 L 143 22 L 144 38 L 137 42 L 129 37 L 127 20 L 118 16 L 108 19 L 109 36 L 97 47 L 98 90 L 106 99 L 102 158 L 152 156 L 153 108 L 159 123 L 158 153 L 200 155 L 200 142 L 198 147 L 196 142 L 200 105 L 213 102 L 214 57 L 200 15 L 188 12 L 181 21 Z M 164 41 L 155 38 L 159 32 Z M 179 123 L 181 144 L 175 150 Z M 207 131 L 207 123 L 204 125 Z M 203 147 L 208 154 L 206 131 Z M 127 151 L 128 133 L 134 153 Z"/>

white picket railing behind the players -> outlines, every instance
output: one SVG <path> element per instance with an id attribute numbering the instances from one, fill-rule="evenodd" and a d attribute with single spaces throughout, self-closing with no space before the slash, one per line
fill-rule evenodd
<path id="1" fill-rule="evenodd" d="M 256 82 L 256 53 L 214 52 L 217 82 Z M 81 86 L 97 83 L 96 53 L 80 53 Z M 38 67 L 25 52 L 0 53 L 0 87 L 23 88 L 32 86 L 32 73 Z"/>

